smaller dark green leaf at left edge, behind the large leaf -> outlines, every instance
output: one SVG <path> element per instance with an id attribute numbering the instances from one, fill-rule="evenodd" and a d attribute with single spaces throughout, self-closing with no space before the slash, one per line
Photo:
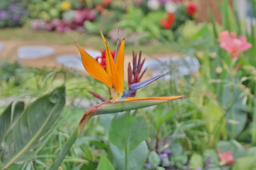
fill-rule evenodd
<path id="1" fill-rule="evenodd" d="M 15 122 L 23 111 L 24 102 L 11 103 L 0 115 L 0 144 L 3 142 L 4 136 L 12 126 L 12 122 Z"/>

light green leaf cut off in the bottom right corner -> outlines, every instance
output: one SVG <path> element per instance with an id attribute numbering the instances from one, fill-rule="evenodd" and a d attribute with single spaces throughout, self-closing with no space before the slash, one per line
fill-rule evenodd
<path id="1" fill-rule="evenodd" d="M 256 168 L 256 156 L 246 156 L 236 160 L 232 170 L 254 170 Z"/>

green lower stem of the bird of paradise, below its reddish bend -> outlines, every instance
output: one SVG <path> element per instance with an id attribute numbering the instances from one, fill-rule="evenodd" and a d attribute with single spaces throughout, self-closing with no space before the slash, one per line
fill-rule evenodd
<path id="1" fill-rule="evenodd" d="M 50 170 L 58 170 L 58 168 L 61 166 L 62 161 L 64 160 L 65 156 L 69 152 L 70 148 L 76 141 L 76 138 L 79 135 L 79 128 L 77 127 L 67 139 L 63 147 L 61 148 L 60 152 L 57 155 L 57 158 L 55 159 L 54 163 L 52 164 L 52 167 Z"/>

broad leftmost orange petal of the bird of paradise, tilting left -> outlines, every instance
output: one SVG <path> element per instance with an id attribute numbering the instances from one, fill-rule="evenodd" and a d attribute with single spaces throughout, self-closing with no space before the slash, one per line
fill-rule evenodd
<path id="1" fill-rule="evenodd" d="M 75 41 L 76 43 L 76 41 Z M 112 87 L 112 79 L 109 77 L 107 72 L 102 68 L 102 66 L 88 54 L 86 51 L 84 51 L 83 48 L 81 48 L 77 43 L 76 46 L 81 54 L 82 63 L 84 65 L 85 70 L 95 79 L 103 82 L 105 85 L 108 86 L 108 88 Z"/>

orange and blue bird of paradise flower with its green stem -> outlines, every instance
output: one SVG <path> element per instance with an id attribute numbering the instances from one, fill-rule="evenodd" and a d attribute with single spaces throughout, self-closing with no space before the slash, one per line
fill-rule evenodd
<path id="1" fill-rule="evenodd" d="M 61 165 L 65 155 L 68 153 L 70 147 L 75 142 L 76 138 L 79 136 L 84 126 L 87 124 L 89 119 L 94 115 L 106 114 L 106 113 L 117 113 L 123 111 L 131 111 L 140 108 L 146 108 L 153 105 L 159 105 L 164 102 L 168 102 L 174 99 L 185 99 L 185 96 L 165 96 L 165 97 L 148 97 L 148 98 L 136 98 L 129 97 L 135 91 L 146 85 L 154 82 L 155 80 L 168 74 L 158 75 L 151 79 L 145 80 L 143 82 L 137 82 L 129 85 L 129 91 L 124 90 L 124 57 L 125 57 L 125 39 L 122 41 L 117 40 L 116 54 L 113 59 L 111 56 L 111 51 L 108 48 L 107 41 L 100 31 L 103 42 L 105 44 L 105 54 L 106 54 L 106 70 L 93 58 L 91 57 L 83 48 L 81 48 L 75 40 L 76 46 L 81 54 L 82 63 L 85 70 L 93 78 L 104 83 L 110 92 L 110 99 L 108 101 L 102 102 L 98 105 L 94 105 L 89 108 L 82 119 L 79 122 L 77 129 L 71 134 L 70 138 L 64 144 L 63 148 L 58 153 L 58 156 L 52 165 L 50 170 L 57 170 Z M 172 71 L 172 70 L 171 70 Z"/>

